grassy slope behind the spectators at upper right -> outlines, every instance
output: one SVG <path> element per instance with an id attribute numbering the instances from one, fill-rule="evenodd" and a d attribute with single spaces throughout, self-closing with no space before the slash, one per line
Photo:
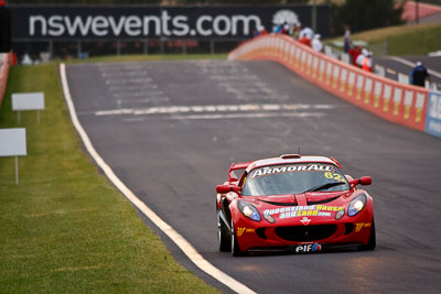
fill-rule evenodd
<path id="1" fill-rule="evenodd" d="M 342 40 L 343 37 L 338 37 L 330 42 Z M 388 55 L 427 55 L 441 48 L 441 23 L 376 29 L 353 34 L 352 40 L 366 41 L 369 47 L 378 47 L 387 42 Z"/>

